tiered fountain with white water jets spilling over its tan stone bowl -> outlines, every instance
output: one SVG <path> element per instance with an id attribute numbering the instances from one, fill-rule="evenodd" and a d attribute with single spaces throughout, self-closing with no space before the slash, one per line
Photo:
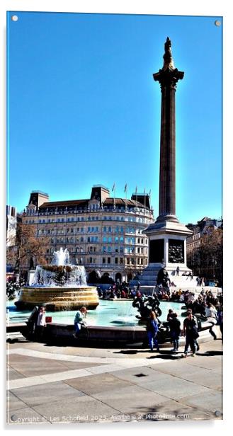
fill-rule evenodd
<path id="1" fill-rule="evenodd" d="M 96 287 L 86 285 L 84 266 L 71 265 L 69 251 L 60 248 L 52 265 L 36 267 L 32 285 L 22 287 L 15 304 L 18 309 L 43 305 L 48 311 L 67 311 L 81 306 L 96 309 L 99 301 Z"/>

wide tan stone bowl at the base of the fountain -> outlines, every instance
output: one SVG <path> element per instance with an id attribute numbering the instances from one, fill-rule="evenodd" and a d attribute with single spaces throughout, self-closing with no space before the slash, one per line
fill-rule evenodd
<path id="1" fill-rule="evenodd" d="M 99 304 L 98 292 L 94 286 L 25 286 L 17 302 L 18 309 L 33 309 L 45 306 L 47 311 L 78 310 L 81 306 L 96 309 Z"/>

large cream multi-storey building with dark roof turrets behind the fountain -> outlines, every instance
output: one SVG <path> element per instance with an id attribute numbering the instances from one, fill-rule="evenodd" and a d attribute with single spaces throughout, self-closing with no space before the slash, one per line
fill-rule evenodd
<path id="1" fill-rule="evenodd" d="M 23 223 L 48 240 L 47 263 L 55 251 L 67 248 L 71 263 L 84 265 L 87 275 L 96 271 L 127 282 L 147 266 L 148 238 L 142 231 L 152 222 L 148 194 L 115 198 L 103 185 L 94 185 L 85 200 L 51 202 L 33 191 L 23 212 Z"/>

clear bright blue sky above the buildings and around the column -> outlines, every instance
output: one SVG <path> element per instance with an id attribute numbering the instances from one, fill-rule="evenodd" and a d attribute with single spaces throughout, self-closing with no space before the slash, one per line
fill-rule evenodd
<path id="1" fill-rule="evenodd" d="M 8 13 L 8 198 L 117 197 L 152 190 L 159 206 L 161 92 L 152 74 L 169 36 L 176 91 L 176 214 L 222 214 L 222 25 L 219 17 Z M 222 22 L 222 18 L 220 18 Z"/>

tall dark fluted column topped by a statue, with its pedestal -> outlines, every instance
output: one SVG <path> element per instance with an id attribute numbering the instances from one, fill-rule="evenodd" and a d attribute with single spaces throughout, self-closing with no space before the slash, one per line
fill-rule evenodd
<path id="1" fill-rule="evenodd" d="M 140 277 L 141 285 L 154 285 L 157 272 L 165 267 L 169 275 L 190 271 L 186 265 L 186 237 L 192 234 L 176 217 L 176 86 L 183 71 L 174 67 L 171 40 L 166 38 L 164 66 L 153 74 L 161 86 L 161 136 L 159 171 L 159 217 L 143 231 L 149 237 L 149 265 Z"/>

